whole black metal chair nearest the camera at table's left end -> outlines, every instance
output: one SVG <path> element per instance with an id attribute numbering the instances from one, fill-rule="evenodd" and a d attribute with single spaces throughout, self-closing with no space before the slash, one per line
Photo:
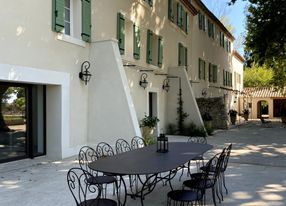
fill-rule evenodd
<path id="1" fill-rule="evenodd" d="M 91 185 L 87 179 L 92 175 L 81 169 L 71 168 L 67 173 L 68 187 L 77 206 L 117 206 L 112 199 L 101 198 L 97 185 Z M 119 201 L 119 200 L 118 200 Z"/>

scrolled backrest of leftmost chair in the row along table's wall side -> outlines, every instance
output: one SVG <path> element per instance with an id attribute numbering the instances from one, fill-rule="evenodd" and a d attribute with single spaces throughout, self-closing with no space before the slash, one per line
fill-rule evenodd
<path id="1" fill-rule="evenodd" d="M 81 169 L 88 171 L 89 173 L 95 173 L 88 167 L 88 164 L 97 160 L 96 151 L 89 146 L 83 146 L 78 153 L 78 163 Z"/>

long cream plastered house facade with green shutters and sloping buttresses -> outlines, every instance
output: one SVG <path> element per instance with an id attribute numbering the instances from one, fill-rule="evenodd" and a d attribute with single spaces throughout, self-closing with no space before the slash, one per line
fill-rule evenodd
<path id="1" fill-rule="evenodd" d="M 6 21 L 0 30 L 0 81 L 46 86 L 48 157 L 61 159 L 82 145 L 140 136 L 145 114 L 160 119 L 157 133 L 166 131 L 176 122 L 179 87 L 190 114 L 186 121 L 197 125 L 203 121 L 195 98 L 225 96 L 232 102 L 233 91 L 241 91 L 233 76 L 242 78 L 242 63 L 233 60 L 232 46 L 226 51 L 220 45 L 221 32 L 224 44 L 232 45 L 234 38 L 200 1 L 70 0 L 62 7 L 64 2 L 1 2 Z M 70 13 L 62 25 L 54 16 L 59 8 Z M 214 37 L 199 28 L 199 12 L 213 23 Z M 135 43 L 134 28 L 140 31 Z M 204 78 L 199 59 L 205 61 Z M 87 85 L 78 77 L 84 61 L 91 63 Z M 232 83 L 224 85 L 226 71 Z M 145 89 L 139 85 L 143 74 Z M 162 88 L 166 79 L 168 92 Z"/>

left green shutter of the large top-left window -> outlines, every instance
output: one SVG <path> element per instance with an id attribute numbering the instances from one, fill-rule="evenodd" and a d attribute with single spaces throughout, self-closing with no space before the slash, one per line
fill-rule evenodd
<path id="1" fill-rule="evenodd" d="M 52 30 L 62 32 L 65 27 L 65 0 L 52 1 Z"/>

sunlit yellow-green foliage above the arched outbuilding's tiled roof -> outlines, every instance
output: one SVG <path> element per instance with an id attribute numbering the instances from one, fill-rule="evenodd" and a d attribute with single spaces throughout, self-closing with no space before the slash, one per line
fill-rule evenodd
<path id="1" fill-rule="evenodd" d="M 245 87 L 269 87 L 273 82 L 273 71 L 264 64 L 253 64 L 251 68 L 244 70 Z"/>

